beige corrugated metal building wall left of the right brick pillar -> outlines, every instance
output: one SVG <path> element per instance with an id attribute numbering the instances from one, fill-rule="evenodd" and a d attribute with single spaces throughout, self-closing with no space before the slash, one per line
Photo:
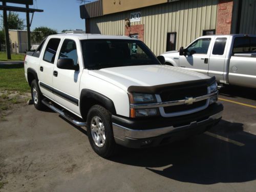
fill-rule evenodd
<path id="1" fill-rule="evenodd" d="M 176 49 L 202 36 L 203 30 L 216 29 L 218 0 L 184 0 L 137 10 L 90 18 L 91 33 L 124 35 L 124 19 L 140 11 L 144 42 L 156 54 L 166 51 L 167 32 L 177 32 Z"/>

